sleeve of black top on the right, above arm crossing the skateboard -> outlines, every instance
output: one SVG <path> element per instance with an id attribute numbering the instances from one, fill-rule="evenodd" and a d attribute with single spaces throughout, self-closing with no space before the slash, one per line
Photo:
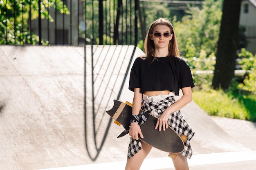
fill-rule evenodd
<path id="1" fill-rule="evenodd" d="M 191 70 L 185 60 L 180 59 L 179 61 L 180 73 L 179 73 L 179 87 L 191 87 L 195 86 Z"/>

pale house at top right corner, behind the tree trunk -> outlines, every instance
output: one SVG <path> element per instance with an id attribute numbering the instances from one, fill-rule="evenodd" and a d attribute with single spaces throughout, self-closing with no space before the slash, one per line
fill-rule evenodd
<path id="1" fill-rule="evenodd" d="M 242 0 L 240 25 L 246 28 L 247 51 L 256 54 L 256 0 Z"/>

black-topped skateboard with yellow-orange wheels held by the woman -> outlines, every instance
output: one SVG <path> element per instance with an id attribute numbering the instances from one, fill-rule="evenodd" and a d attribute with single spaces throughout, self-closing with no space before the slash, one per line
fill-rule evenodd
<path id="1" fill-rule="evenodd" d="M 114 123 L 119 126 L 124 126 L 126 130 L 129 129 L 132 104 L 114 100 L 114 106 L 106 112 L 110 117 L 115 119 Z M 140 113 L 141 112 L 145 111 L 140 110 Z M 184 141 L 187 139 L 186 136 L 183 135 L 180 137 L 170 126 L 168 126 L 165 131 L 161 130 L 159 132 L 158 129 L 155 130 L 156 122 L 157 118 L 148 114 L 147 120 L 140 126 L 144 138 L 142 139 L 139 136 L 139 139 L 154 148 L 169 152 L 170 154 L 168 156 L 175 159 L 175 155 L 184 150 Z"/>

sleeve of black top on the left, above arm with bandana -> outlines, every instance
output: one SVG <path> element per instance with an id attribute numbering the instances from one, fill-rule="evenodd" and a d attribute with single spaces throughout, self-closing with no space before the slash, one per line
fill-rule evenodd
<path id="1" fill-rule="evenodd" d="M 130 72 L 129 90 L 134 91 L 134 88 L 141 88 L 140 84 L 140 69 L 141 69 L 141 59 L 136 58 Z"/>

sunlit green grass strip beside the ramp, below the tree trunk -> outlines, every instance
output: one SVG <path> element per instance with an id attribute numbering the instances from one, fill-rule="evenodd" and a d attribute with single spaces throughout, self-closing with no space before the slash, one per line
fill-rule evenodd
<path id="1" fill-rule="evenodd" d="M 193 101 L 205 113 L 220 117 L 244 119 L 256 122 L 256 95 L 235 92 L 193 91 Z"/>

